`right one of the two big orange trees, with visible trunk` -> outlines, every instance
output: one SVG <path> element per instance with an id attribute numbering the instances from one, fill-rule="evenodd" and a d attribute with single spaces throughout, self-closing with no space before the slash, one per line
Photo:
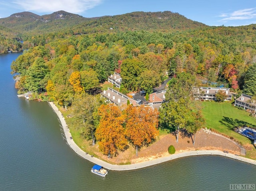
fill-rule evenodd
<path id="1" fill-rule="evenodd" d="M 136 148 L 138 156 L 138 148 L 150 144 L 158 135 L 158 111 L 143 106 L 128 106 L 125 112 L 125 135 Z"/>

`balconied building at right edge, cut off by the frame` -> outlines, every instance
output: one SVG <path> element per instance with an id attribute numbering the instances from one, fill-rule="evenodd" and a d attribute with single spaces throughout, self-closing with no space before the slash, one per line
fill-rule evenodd
<path id="1" fill-rule="evenodd" d="M 242 94 L 239 98 L 235 100 L 235 106 L 242 107 L 245 110 L 250 110 L 251 112 L 255 112 L 256 103 L 254 103 L 254 101 L 250 103 L 251 98 L 252 96 Z"/>

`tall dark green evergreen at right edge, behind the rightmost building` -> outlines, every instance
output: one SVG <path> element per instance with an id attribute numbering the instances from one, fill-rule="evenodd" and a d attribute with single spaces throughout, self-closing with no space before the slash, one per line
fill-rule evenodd
<path id="1" fill-rule="evenodd" d="M 245 73 L 243 93 L 246 95 L 256 95 L 256 63 L 253 63 Z"/>

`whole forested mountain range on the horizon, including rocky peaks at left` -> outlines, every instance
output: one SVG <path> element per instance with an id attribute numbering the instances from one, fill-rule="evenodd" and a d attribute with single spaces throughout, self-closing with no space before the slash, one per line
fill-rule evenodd
<path id="1" fill-rule="evenodd" d="M 107 32 L 126 30 L 170 31 L 187 30 L 206 27 L 205 24 L 192 21 L 186 17 L 165 12 L 132 12 L 116 16 L 98 18 L 84 18 L 77 14 L 58 11 L 52 14 L 39 16 L 31 12 L 12 14 L 10 17 L 1 18 L 0 25 L 30 32 L 53 32 L 71 29 L 77 32 Z"/>

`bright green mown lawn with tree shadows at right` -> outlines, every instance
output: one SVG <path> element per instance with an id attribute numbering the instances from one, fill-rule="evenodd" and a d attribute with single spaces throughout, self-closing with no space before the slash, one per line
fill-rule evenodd
<path id="1" fill-rule="evenodd" d="M 256 119 L 249 113 L 235 108 L 227 102 L 202 102 L 202 114 L 206 119 L 206 127 L 222 134 L 234 137 L 242 144 L 251 144 L 251 141 L 232 130 L 233 127 L 248 125 L 256 127 Z"/>

